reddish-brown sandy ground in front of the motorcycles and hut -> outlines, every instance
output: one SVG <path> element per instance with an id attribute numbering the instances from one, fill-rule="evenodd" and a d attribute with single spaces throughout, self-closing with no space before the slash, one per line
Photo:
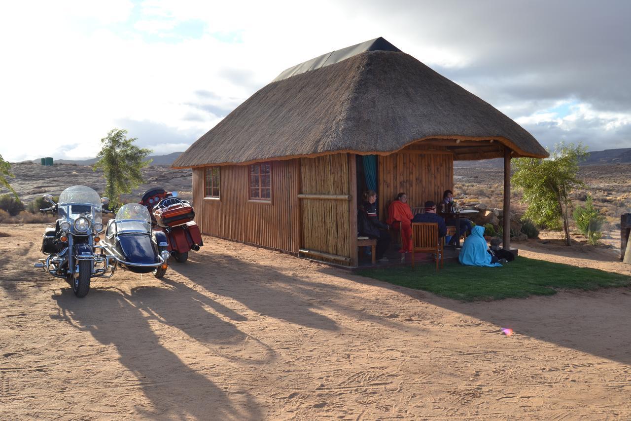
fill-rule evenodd
<path id="1" fill-rule="evenodd" d="M 43 228 L 0 225 L 0 419 L 631 418 L 629 288 L 461 303 L 204 238 L 77 299 L 32 268 Z"/>

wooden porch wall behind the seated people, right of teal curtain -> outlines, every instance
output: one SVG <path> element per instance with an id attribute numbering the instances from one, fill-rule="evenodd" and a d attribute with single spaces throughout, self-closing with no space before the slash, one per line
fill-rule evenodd
<path id="1" fill-rule="evenodd" d="M 411 145 L 379 159 L 379 219 L 386 220 L 387 205 L 399 194 L 408 195 L 410 207 L 426 200 L 437 203 L 454 186 L 454 158 L 449 150 L 421 149 Z"/>

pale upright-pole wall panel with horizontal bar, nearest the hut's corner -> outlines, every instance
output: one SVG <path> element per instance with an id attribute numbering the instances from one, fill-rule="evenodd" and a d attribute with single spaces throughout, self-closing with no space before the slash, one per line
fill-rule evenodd
<path id="1" fill-rule="evenodd" d="M 304 194 L 350 195 L 348 154 L 300 159 Z M 353 197 L 352 200 L 355 200 Z M 302 199 L 302 247 L 351 257 L 348 200 Z M 357 239 L 356 239 L 357 240 Z M 356 252 L 356 251 L 355 251 Z"/>

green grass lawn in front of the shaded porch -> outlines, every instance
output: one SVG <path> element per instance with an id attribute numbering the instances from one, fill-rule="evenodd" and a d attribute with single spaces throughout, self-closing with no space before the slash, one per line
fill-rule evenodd
<path id="1" fill-rule="evenodd" d="M 462 301 L 502 300 L 529 295 L 552 295 L 557 289 L 596 290 L 631 286 L 631 277 L 545 260 L 517 257 L 502 267 L 463 266 L 445 262 L 436 274 L 435 264 L 361 269 L 362 276 L 387 283 L 429 291 Z"/>

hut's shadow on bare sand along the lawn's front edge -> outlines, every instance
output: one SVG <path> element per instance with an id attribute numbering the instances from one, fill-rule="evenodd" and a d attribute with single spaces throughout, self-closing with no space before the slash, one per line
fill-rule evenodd
<path id="1" fill-rule="evenodd" d="M 447 264 L 457 263 L 445 262 Z M 428 265 L 427 270 L 433 271 L 433 267 Z M 492 302 L 459 302 L 339 269 L 324 268 L 321 271 L 403 293 L 498 327 L 510 327 L 514 332 L 531 338 L 631 365 L 631 336 L 627 334 L 627 326 L 631 326 L 631 288 L 574 290 L 551 296 Z"/>

